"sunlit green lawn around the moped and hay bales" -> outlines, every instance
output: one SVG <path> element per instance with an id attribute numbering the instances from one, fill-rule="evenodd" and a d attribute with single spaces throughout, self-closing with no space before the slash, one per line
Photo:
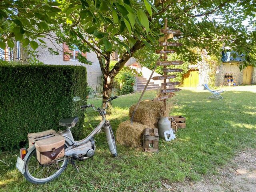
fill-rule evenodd
<path id="1" fill-rule="evenodd" d="M 15 169 L 18 151 L 0 152 L 0 190 L 2 191 L 154 191 L 162 183 L 199 180 L 204 174 L 217 174 L 216 168 L 226 164 L 237 152 L 256 147 L 256 86 L 244 91 L 224 92 L 223 100 L 207 100 L 209 92 L 182 90 L 177 93 L 178 106 L 172 115 L 186 117 L 186 129 L 178 130 L 176 139 L 160 141 L 160 152 L 149 154 L 142 148 L 118 145 L 117 158 L 108 151 L 105 134 L 95 137 L 96 154 L 77 162 L 79 173 L 69 165 L 56 180 L 34 185 Z M 247 91 L 246 91 L 247 90 Z M 144 98 L 154 98 L 146 92 Z M 128 110 L 140 93 L 120 96 L 113 101 L 107 116 L 114 132 L 128 119 Z M 89 102 L 100 106 L 100 99 Z M 85 132 L 96 126 L 100 117 L 88 110 Z M 128 135 L 127 135 L 128 137 Z"/>

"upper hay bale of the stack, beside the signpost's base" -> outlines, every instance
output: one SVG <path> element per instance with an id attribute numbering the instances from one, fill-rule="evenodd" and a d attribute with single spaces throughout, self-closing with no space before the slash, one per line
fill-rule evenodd
<path id="1" fill-rule="evenodd" d="M 132 112 L 135 108 L 135 105 L 132 105 L 129 110 L 129 116 L 132 118 Z M 150 127 L 157 127 L 156 118 L 160 117 L 161 113 L 164 110 L 164 103 L 161 101 L 151 101 L 144 100 L 140 102 L 133 121 L 139 122 L 144 125 L 148 125 Z"/>

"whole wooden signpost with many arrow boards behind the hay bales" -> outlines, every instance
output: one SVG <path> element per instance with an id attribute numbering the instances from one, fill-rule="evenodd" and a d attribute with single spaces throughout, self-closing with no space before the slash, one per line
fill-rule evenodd
<path id="1" fill-rule="evenodd" d="M 166 66 L 168 65 L 181 65 L 184 62 L 183 61 L 167 61 L 167 54 L 168 53 L 175 53 L 177 52 L 177 50 L 170 50 L 167 49 L 167 46 L 182 46 L 181 43 L 179 42 L 167 42 L 167 39 L 173 38 L 174 35 L 180 35 L 181 31 L 180 30 L 171 30 L 167 28 L 167 18 L 165 19 L 165 28 L 164 29 L 160 29 L 160 32 L 164 33 L 164 38 L 161 37 L 159 39 L 160 41 L 160 46 L 164 46 L 163 50 L 156 50 L 156 53 L 160 53 L 160 54 L 164 54 L 164 61 L 158 61 L 156 63 L 156 65 L 158 66 L 164 66 L 163 72 L 164 75 L 163 76 L 155 76 L 152 79 L 153 80 L 164 80 L 164 83 L 161 84 L 161 86 L 163 87 L 163 89 L 161 90 L 161 93 L 164 94 L 164 96 L 162 97 L 157 97 L 154 98 L 153 101 L 164 101 L 164 112 L 166 111 L 166 99 L 171 98 L 174 95 L 174 92 L 180 91 L 179 88 L 169 88 L 166 89 L 166 86 L 174 86 L 174 85 L 178 85 L 180 84 L 180 82 L 166 82 L 166 79 L 172 79 L 172 78 L 176 78 L 176 75 L 167 75 L 166 73 L 168 72 L 182 72 L 182 69 L 168 69 L 166 68 Z M 168 95 L 166 95 L 166 93 L 169 93 Z M 164 114 L 164 116 L 168 116 L 168 114 Z"/>

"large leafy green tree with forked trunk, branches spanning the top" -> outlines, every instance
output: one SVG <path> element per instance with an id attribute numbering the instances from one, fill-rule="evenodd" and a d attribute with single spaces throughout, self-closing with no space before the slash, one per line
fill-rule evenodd
<path id="1" fill-rule="evenodd" d="M 163 18 L 168 18 L 169 28 L 183 33 L 173 39 L 184 44 L 174 48 L 178 55 L 189 56 L 194 47 L 212 54 L 225 44 L 246 54 L 244 66 L 255 65 L 251 51 L 256 31 L 249 30 L 255 22 L 254 0 L 2 0 L 0 8 L 0 19 L 11 24 L 0 29 L 0 47 L 5 41 L 12 47 L 14 37 L 35 49 L 38 44 L 33 38 L 54 32 L 56 36 L 50 37 L 57 42 L 76 43 L 82 51 L 94 51 L 104 76 L 103 101 L 109 98 L 114 77 L 130 57 L 144 46 L 160 49 Z M 243 25 L 246 19 L 248 26 Z M 110 69 L 112 52 L 118 52 L 120 60 Z"/>

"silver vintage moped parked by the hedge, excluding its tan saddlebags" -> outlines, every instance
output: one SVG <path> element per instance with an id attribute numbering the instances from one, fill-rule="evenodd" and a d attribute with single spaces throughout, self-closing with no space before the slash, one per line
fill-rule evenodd
<path id="1" fill-rule="evenodd" d="M 102 120 L 96 128 L 84 139 L 75 141 L 70 128 L 74 127 L 78 122 L 78 117 L 59 120 L 59 125 L 66 127 L 66 130 L 59 130 L 59 134 L 65 138 L 64 156 L 48 162 L 47 164 L 40 164 L 36 158 L 36 147 L 32 144 L 27 150 L 22 148 L 20 150 L 20 157 L 18 157 L 16 168 L 25 176 L 25 178 L 34 184 L 44 184 L 58 177 L 66 168 L 68 162 L 74 165 L 78 171 L 74 160 L 86 160 L 94 156 L 96 146 L 93 136 L 98 134 L 102 128 L 105 129 L 108 147 L 112 156 L 117 156 L 116 142 L 110 122 L 106 120 L 106 109 L 108 102 L 116 99 L 114 96 L 107 100 L 105 106 L 96 108 L 93 104 L 82 105 L 80 108 L 85 109 L 91 107 L 94 111 L 102 116 Z M 80 101 L 80 97 L 74 97 L 73 101 Z M 82 100 L 83 101 L 83 100 Z M 48 136 L 44 136 L 47 138 Z M 43 138 L 40 138 L 43 139 Z"/>

